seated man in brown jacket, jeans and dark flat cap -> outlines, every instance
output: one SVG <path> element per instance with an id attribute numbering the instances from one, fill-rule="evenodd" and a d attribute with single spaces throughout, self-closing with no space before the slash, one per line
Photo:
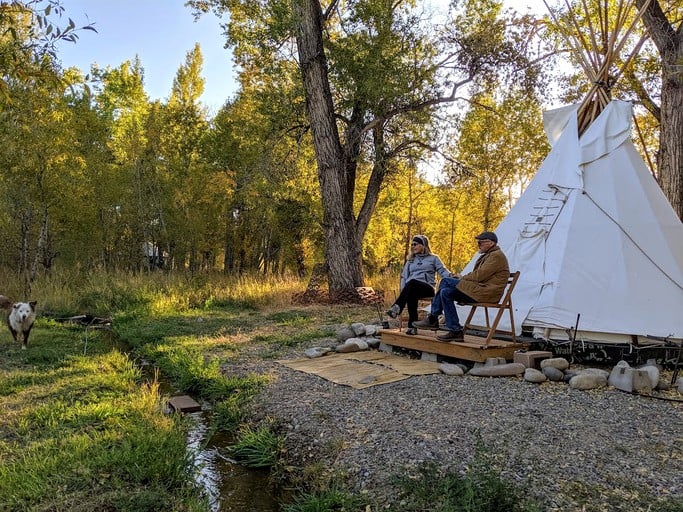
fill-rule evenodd
<path id="1" fill-rule="evenodd" d="M 419 329 L 439 329 L 439 315 L 446 319 L 446 334 L 437 336 L 439 341 L 464 341 L 464 332 L 455 303 L 498 302 L 505 291 L 510 267 L 503 251 L 498 247 L 498 237 L 492 231 L 484 231 L 475 237 L 479 247 L 479 259 L 469 274 L 453 274 L 441 279 L 439 289 L 432 299 L 429 316 L 413 326 Z"/>

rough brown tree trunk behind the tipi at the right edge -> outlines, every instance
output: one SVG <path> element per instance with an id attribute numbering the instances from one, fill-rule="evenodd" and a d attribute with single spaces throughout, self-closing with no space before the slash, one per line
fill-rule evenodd
<path id="1" fill-rule="evenodd" d="M 645 0 L 637 0 L 642 6 Z M 657 0 L 643 15 L 662 62 L 662 105 L 659 135 L 659 180 L 664 194 L 683 220 L 683 23 L 674 29 Z"/>

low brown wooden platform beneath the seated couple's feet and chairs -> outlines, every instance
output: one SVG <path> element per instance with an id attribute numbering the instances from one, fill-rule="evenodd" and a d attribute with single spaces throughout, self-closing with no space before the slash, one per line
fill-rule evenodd
<path id="1" fill-rule="evenodd" d="M 443 333 L 444 331 L 440 332 Z M 398 347 L 421 352 L 422 359 L 436 360 L 437 356 L 444 356 L 484 363 L 490 357 L 504 357 L 512 360 L 517 350 L 529 348 L 527 343 L 513 343 L 495 338 L 491 340 L 488 346 L 484 346 L 484 337 L 471 334 L 465 335 L 464 342 L 445 343 L 438 341 L 436 335 L 437 332 L 429 330 L 420 330 L 419 334 L 411 336 L 399 329 L 382 329 L 380 331 L 382 340 L 380 349 L 391 351 L 394 347 Z"/>

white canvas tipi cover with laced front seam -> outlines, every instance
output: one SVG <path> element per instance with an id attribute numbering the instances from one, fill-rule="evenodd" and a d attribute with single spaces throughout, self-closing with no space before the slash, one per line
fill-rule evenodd
<path id="1" fill-rule="evenodd" d="M 517 334 L 524 326 L 566 340 L 578 318 L 576 340 L 680 342 L 683 223 L 633 146 L 632 106 L 611 101 L 581 136 L 577 110 L 545 115 L 552 150 L 495 229 L 511 271 L 521 271 Z"/>

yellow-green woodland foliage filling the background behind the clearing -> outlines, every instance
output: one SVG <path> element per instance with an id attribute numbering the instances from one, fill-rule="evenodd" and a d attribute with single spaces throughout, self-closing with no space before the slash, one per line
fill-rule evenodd
<path id="1" fill-rule="evenodd" d="M 74 271 L 75 279 L 93 269 L 150 272 L 143 247 L 192 279 L 214 270 L 303 277 L 323 260 L 325 205 L 292 58 L 291 3 L 188 5 L 229 14 L 241 89 L 213 119 L 199 102 L 199 46 L 179 63 L 168 100 L 152 102 L 138 59 L 95 66 L 92 89 L 80 70 L 56 66 L 51 41 L 75 41 L 79 30 L 70 20 L 59 26 L 56 0 L 0 11 L 2 84 L 15 100 L 0 105 L 0 267 L 12 269 L 14 295 L 29 294 L 41 271 Z M 534 58 L 545 53 L 536 46 L 539 23 L 494 0 L 452 7 L 443 24 L 423 16 L 421 4 L 376 0 L 344 4 L 324 20 L 338 142 L 353 162 L 343 173 L 353 200 L 343 218 L 355 221 L 362 247 L 354 254 L 370 276 L 395 272 L 418 231 L 459 269 L 473 252 L 471 235 L 495 226 L 547 150 L 540 101 L 530 95 L 543 85 L 543 59 Z M 545 44 L 552 30 L 544 34 Z M 655 98 L 654 48 L 646 45 L 634 65 L 624 78 Z M 473 107 L 444 110 L 470 96 L 462 91 L 468 83 Z M 646 125 L 649 145 L 657 129 Z M 447 158 L 436 166 L 450 172 L 449 186 L 420 176 L 418 162 L 434 149 Z M 105 314 L 118 307 L 107 308 L 109 299 L 127 300 L 116 292 L 83 297 L 79 307 Z M 259 295 L 251 292 L 169 304 L 252 307 Z"/>

